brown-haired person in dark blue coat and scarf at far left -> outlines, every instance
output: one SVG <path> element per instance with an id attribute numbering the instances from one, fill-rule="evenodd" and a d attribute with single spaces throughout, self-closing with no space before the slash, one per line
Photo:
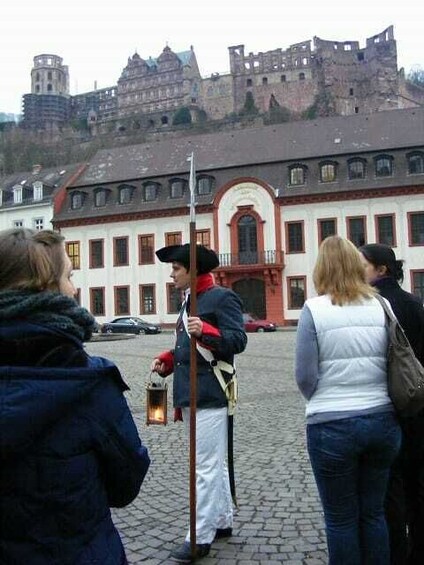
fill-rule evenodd
<path id="1" fill-rule="evenodd" d="M 149 466 L 117 367 L 89 356 L 63 237 L 0 232 L 0 563 L 127 563 L 110 507 Z"/>

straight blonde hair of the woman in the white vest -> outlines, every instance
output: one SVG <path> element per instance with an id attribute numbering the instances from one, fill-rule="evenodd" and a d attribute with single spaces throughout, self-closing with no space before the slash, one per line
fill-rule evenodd
<path id="1" fill-rule="evenodd" d="M 375 294 L 365 280 L 359 251 L 351 241 L 338 235 L 321 243 L 313 280 L 317 293 L 330 295 L 332 303 L 339 306 Z"/>

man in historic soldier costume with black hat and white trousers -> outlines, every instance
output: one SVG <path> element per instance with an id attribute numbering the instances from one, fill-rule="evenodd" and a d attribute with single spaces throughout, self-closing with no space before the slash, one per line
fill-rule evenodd
<path id="1" fill-rule="evenodd" d="M 171 278 L 184 291 L 185 300 L 176 325 L 176 343 L 152 362 L 162 377 L 174 373 L 174 407 L 188 425 L 190 412 L 190 337 L 213 355 L 212 364 L 197 354 L 196 410 L 196 555 L 192 556 L 190 533 L 171 553 L 179 563 L 208 555 L 215 538 L 232 535 L 233 506 L 226 463 L 228 447 L 227 397 L 214 372 L 215 361 L 233 366 L 234 355 L 247 343 L 242 304 L 232 290 L 215 285 L 211 271 L 219 265 L 216 253 L 196 246 L 197 312 L 190 316 L 190 245 L 170 245 L 156 252 L 159 260 L 172 263 Z M 211 357 L 209 353 L 209 357 Z M 224 373 L 227 382 L 231 375 Z"/>

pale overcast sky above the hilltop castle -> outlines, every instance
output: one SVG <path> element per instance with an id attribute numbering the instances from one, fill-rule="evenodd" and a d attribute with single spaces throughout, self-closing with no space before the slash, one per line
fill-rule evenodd
<path id="1" fill-rule="evenodd" d="M 424 67 L 424 4 L 419 0 L 9 0 L 1 8 L 0 112 L 19 113 L 31 92 L 35 55 L 69 67 L 70 93 L 117 83 L 135 51 L 158 57 L 193 45 L 202 76 L 229 72 L 228 47 L 286 49 L 318 36 L 359 41 L 394 26 L 398 65 Z"/>

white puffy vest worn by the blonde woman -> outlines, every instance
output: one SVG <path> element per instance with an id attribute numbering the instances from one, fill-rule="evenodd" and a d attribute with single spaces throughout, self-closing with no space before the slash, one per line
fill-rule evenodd
<path id="1" fill-rule="evenodd" d="M 306 416 L 390 403 L 388 335 L 378 300 L 335 306 L 328 296 L 318 296 L 306 304 L 314 319 L 319 355 L 318 385 L 306 405 Z"/>

